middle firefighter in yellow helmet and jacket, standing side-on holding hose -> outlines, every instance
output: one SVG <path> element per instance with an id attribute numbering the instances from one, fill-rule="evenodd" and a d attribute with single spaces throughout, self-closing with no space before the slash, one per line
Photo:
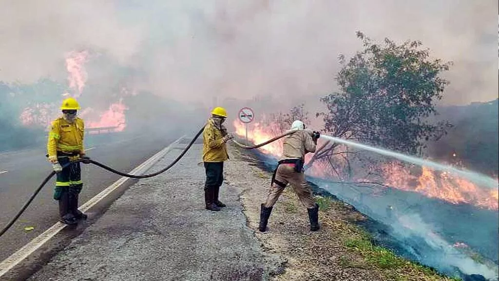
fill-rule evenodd
<path id="1" fill-rule="evenodd" d="M 224 161 L 229 159 L 226 142 L 233 138 L 223 125 L 227 111 L 222 107 L 213 109 L 212 117 L 203 131 L 203 162 L 206 171 L 206 209 L 219 211 L 226 205 L 219 200 L 220 186 L 224 181 Z"/>

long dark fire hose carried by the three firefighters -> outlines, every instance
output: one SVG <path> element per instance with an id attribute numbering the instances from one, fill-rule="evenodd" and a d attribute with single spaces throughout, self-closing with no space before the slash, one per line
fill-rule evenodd
<path id="1" fill-rule="evenodd" d="M 125 177 L 130 177 L 130 178 L 148 178 L 148 177 L 153 177 L 153 176 L 156 176 L 158 174 L 161 174 L 161 173 L 167 171 L 173 165 L 175 165 L 185 155 L 185 153 L 187 153 L 187 151 L 191 148 L 191 146 L 194 144 L 194 142 L 203 133 L 204 129 L 205 129 L 205 127 L 203 126 L 198 131 L 198 133 L 196 134 L 196 136 L 194 136 L 194 138 L 191 140 L 191 142 L 189 142 L 189 144 L 186 146 L 186 148 L 184 148 L 184 150 L 182 150 L 182 152 L 177 156 L 177 158 L 175 158 L 175 160 L 173 160 L 173 162 L 171 162 L 168 166 L 164 167 L 163 169 L 161 169 L 161 170 L 159 170 L 157 172 L 150 173 L 150 174 L 136 175 L 136 174 L 124 173 L 124 172 L 121 172 L 121 171 L 118 171 L 116 169 L 113 169 L 113 168 L 111 168 L 111 167 L 109 167 L 109 166 L 107 166 L 107 165 L 105 165 L 103 163 L 100 163 L 100 162 L 92 160 L 92 159 L 77 159 L 77 160 L 73 160 L 73 161 L 71 161 L 71 162 L 63 165 L 62 168 L 67 167 L 71 163 L 77 163 L 77 162 L 83 162 L 84 161 L 85 163 L 92 163 L 92 164 L 94 164 L 96 166 L 99 166 L 101 168 L 104 168 L 104 169 L 106 169 L 106 170 L 108 170 L 110 172 L 113 172 L 113 173 L 116 173 L 118 175 L 125 176 Z M 289 135 L 289 134 L 291 134 L 293 132 L 295 132 L 295 131 L 294 130 L 288 131 L 286 133 L 283 133 L 281 135 L 273 137 L 273 138 L 271 138 L 271 139 L 269 139 L 269 140 L 267 140 L 265 142 L 262 142 L 262 143 L 257 144 L 257 145 L 252 145 L 252 146 L 241 144 L 238 141 L 236 141 L 235 139 L 233 139 L 233 141 L 234 141 L 234 143 L 236 143 L 238 146 L 240 146 L 242 148 L 245 148 L 245 149 L 255 149 L 255 148 L 261 147 L 263 145 L 266 145 L 266 144 L 268 144 L 270 142 L 276 141 L 277 139 L 282 138 L 282 137 L 284 137 L 286 135 Z M 3 227 L 3 229 L 0 231 L 0 237 L 14 224 L 14 222 L 19 218 L 19 216 L 21 216 L 21 214 L 26 210 L 26 208 L 29 206 L 29 204 L 31 203 L 31 201 L 33 201 L 33 199 L 36 197 L 36 195 L 40 192 L 41 188 L 43 188 L 43 186 L 45 186 L 45 184 L 54 175 L 55 175 L 55 171 L 52 171 L 52 172 L 50 172 L 50 174 L 47 175 L 47 177 L 45 177 L 45 179 L 43 179 L 43 181 L 41 182 L 41 184 L 38 186 L 38 188 L 36 188 L 36 190 L 31 195 L 31 197 L 26 201 L 26 203 L 24 203 L 24 205 L 19 210 L 19 212 L 17 212 L 17 214 L 10 220 L 10 222 L 7 223 L 7 225 L 5 227 Z"/>

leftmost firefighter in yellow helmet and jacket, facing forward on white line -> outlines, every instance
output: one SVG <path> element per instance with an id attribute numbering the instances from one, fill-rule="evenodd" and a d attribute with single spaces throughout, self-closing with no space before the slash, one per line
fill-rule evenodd
<path id="1" fill-rule="evenodd" d="M 75 224 L 87 215 L 78 210 L 78 195 L 83 187 L 80 163 L 70 161 L 82 158 L 88 163 L 89 158 L 83 150 L 84 122 L 76 116 L 78 101 L 66 98 L 60 109 L 62 116 L 52 121 L 48 134 L 47 155 L 57 176 L 53 197 L 59 201 L 60 221 Z"/>

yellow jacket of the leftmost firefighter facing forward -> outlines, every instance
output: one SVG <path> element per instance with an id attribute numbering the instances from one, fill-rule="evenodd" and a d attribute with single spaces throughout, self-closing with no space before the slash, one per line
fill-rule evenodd
<path id="1" fill-rule="evenodd" d="M 48 133 L 48 159 L 57 159 L 57 151 L 84 154 L 84 129 L 85 123 L 83 122 L 83 119 L 79 117 L 76 117 L 72 123 L 69 123 L 63 117 L 53 120 L 50 132 Z"/>

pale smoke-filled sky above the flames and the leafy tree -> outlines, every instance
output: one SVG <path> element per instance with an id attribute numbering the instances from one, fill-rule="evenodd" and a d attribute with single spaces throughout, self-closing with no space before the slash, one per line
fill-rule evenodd
<path id="1" fill-rule="evenodd" d="M 141 73 L 136 90 L 182 101 L 316 99 L 336 88 L 338 55 L 362 49 L 361 30 L 452 60 L 446 104 L 488 101 L 499 92 L 497 11 L 497 0 L 7 0 L 0 80 L 65 79 L 64 53 L 90 49 Z"/>

